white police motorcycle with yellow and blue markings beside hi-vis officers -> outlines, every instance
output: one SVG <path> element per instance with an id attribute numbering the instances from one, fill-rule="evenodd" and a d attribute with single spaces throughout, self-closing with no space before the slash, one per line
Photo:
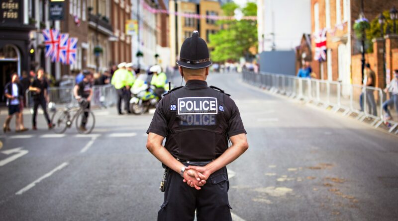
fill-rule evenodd
<path id="1" fill-rule="evenodd" d="M 141 74 L 137 80 L 146 79 L 145 74 Z M 169 90 L 169 84 L 165 84 L 165 91 Z M 155 94 L 155 86 L 149 85 L 147 81 L 143 81 L 138 87 L 131 87 L 130 111 L 133 114 L 141 115 L 148 112 L 151 108 L 156 108 L 159 103 L 159 97 Z M 165 93 L 166 93 L 165 92 Z"/>

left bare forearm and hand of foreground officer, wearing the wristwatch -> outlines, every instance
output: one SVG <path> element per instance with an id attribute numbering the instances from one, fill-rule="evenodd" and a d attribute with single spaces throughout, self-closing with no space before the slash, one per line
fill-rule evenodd
<path id="1" fill-rule="evenodd" d="M 180 170 L 182 167 L 184 167 L 184 164 L 174 158 L 173 155 L 170 154 L 165 147 L 163 147 L 163 140 L 164 137 L 155 133 L 149 133 L 146 148 L 163 164 L 177 173 L 180 173 Z M 200 190 L 200 186 L 203 186 L 206 183 L 203 175 L 195 171 L 185 170 L 184 179 L 188 180 L 190 183 L 189 185 L 191 187 L 195 187 L 197 190 Z"/>

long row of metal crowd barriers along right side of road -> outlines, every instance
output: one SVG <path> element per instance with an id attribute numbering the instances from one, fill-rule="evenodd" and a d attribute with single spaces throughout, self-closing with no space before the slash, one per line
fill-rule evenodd
<path id="1" fill-rule="evenodd" d="M 243 81 L 262 87 L 272 93 L 304 100 L 334 112 L 355 116 L 359 121 L 368 121 L 374 127 L 384 122 L 390 124 L 389 132 L 398 134 L 397 105 L 389 106 L 392 120 L 384 121 L 383 103 L 389 96 L 381 88 L 355 84 L 301 78 L 294 75 L 243 72 Z"/>

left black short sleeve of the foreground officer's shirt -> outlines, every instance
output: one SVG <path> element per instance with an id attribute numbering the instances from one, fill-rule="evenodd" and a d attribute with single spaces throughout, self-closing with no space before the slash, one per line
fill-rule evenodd
<path id="1" fill-rule="evenodd" d="M 167 108 L 165 108 L 165 105 L 167 103 L 168 103 L 168 96 L 163 97 L 163 99 L 160 100 L 158 107 L 156 108 L 155 114 L 153 115 L 151 124 L 149 125 L 149 128 L 146 131 L 147 134 L 154 133 L 162 137 L 166 137 L 168 124 L 166 119 Z"/>

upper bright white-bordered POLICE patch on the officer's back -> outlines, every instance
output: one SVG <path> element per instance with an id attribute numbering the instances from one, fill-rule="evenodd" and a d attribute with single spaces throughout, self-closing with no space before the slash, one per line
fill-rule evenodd
<path id="1" fill-rule="evenodd" d="M 179 115 L 184 114 L 217 114 L 217 98 L 215 97 L 183 97 L 178 98 Z"/>

